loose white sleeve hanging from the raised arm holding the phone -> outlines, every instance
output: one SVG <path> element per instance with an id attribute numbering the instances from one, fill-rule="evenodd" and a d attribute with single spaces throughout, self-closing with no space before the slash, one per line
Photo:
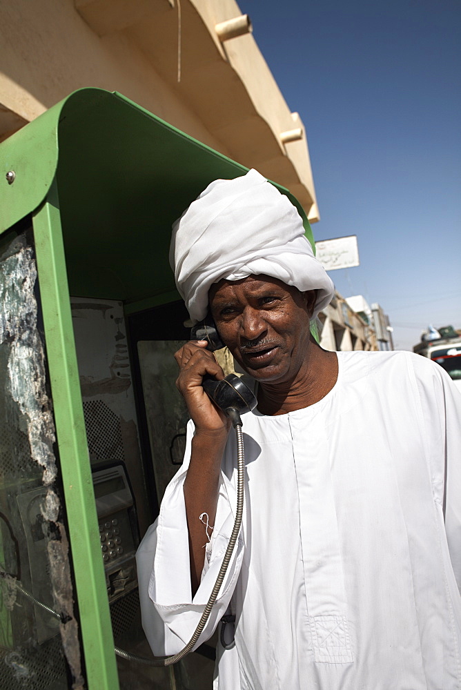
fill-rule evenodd
<path id="1" fill-rule="evenodd" d="M 136 555 L 142 624 L 155 655 L 175 654 L 181 651 L 192 637 L 216 582 L 234 524 L 236 491 L 222 472 L 215 529 L 209 544 L 206 544 L 204 528 L 204 570 L 199 589 L 192 598 L 183 494 L 193 437 L 191 422 L 187 431 L 184 463 L 168 484 L 159 517 L 149 527 Z M 195 647 L 213 635 L 219 620 L 226 612 L 242 566 L 243 544 L 241 530 L 217 601 Z"/>

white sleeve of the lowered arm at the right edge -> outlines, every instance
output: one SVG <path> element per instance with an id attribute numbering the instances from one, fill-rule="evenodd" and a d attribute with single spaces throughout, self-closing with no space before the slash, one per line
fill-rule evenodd
<path id="1" fill-rule="evenodd" d="M 451 565 L 461 591 L 461 393 L 446 371 L 421 355 L 413 359 L 424 426 L 431 429 L 433 490 L 442 505 Z"/>

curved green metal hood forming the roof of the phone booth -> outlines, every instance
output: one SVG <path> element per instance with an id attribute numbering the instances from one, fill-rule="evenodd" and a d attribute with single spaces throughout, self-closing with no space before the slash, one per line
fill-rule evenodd
<path id="1" fill-rule="evenodd" d="M 211 180 L 247 170 L 133 101 L 100 89 L 79 90 L 58 103 L 1 144 L 0 157 L 3 167 L 19 170 L 12 185 L 0 177 L 0 209 L 16 195 L 14 213 L 5 215 L 0 230 L 45 199 L 57 159 L 70 293 L 127 305 L 175 290 L 168 264 L 171 224 Z M 33 170 L 27 178 L 26 164 Z M 313 242 L 300 204 L 277 187 L 300 210 Z"/>

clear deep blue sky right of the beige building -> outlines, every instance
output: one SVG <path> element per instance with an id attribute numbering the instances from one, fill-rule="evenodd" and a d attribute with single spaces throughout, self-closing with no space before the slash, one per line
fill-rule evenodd
<path id="1" fill-rule="evenodd" d="M 461 328 L 459 0 L 239 0 L 308 137 L 315 239 L 357 235 L 331 271 L 379 302 L 395 348 Z"/>

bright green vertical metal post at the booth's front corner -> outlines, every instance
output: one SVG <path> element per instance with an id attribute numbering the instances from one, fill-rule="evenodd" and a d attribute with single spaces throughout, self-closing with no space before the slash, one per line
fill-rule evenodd
<path id="1" fill-rule="evenodd" d="M 33 217 L 57 444 L 90 690 L 117 690 L 117 664 L 81 402 L 56 186 Z"/>

